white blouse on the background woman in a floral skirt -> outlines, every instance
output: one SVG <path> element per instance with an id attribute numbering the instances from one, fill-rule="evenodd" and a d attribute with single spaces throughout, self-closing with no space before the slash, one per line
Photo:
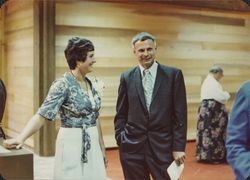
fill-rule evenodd
<path id="1" fill-rule="evenodd" d="M 229 93 L 223 91 L 221 84 L 214 78 L 213 74 L 208 74 L 201 86 L 201 101 L 214 99 L 225 104 L 229 98 Z"/>

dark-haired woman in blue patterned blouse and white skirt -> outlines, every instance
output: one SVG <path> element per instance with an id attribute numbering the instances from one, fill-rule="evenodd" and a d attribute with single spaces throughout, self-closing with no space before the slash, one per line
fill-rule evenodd
<path id="1" fill-rule="evenodd" d="M 45 120 L 55 120 L 59 112 L 54 179 L 106 179 L 105 147 L 97 119 L 101 99 L 86 77 L 96 63 L 94 46 L 87 39 L 74 37 L 64 53 L 69 72 L 52 84 L 38 112 L 20 135 L 6 140 L 4 146 L 20 148 Z"/>

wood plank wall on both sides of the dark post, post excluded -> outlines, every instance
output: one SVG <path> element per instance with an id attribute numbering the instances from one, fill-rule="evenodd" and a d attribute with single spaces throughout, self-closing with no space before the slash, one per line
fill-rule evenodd
<path id="1" fill-rule="evenodd" d="M 0 9 L 0 52 L 3 52 L 0 75 L 5 74 L 8 80 L 5 122 L 9 136 L 16 136 L 23 129 L 36 106 L 34 48 L 39 42 L 34 42 L 37 32 L 34 32 L 33 3 L 33 0 L 9 0 L 4 13 Z M 200 86 L 208 69 L 213 64 L 224 68 L 225 77 L 221 83 L 232 94 L 227 105 L 229 109 L 240 84 L 250 77 L 249 13 L 146 2 L 57 0 L 55 3 L 54 78 L 68 70 L 63 51 L 69 38 L 81 36 L 94 42 L 97 63 L 95 72 L 90 75 L 105 83 L 100 120 L 107 147 L 115 146 L 113 118 L 120 74 L 137 65 L 130 41 L 140 31 L 157 37 L 160 63 L 183 70 L 189 139 L 195 138 Z M 33 146 L 33 138 L 27 143 Z"/>

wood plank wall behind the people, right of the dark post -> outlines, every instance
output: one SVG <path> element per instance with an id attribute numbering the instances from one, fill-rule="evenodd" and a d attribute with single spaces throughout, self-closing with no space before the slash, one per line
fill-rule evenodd
<path id="1" fill-rule="evenodd" d="M 140 31 L 158 40 L 157 60 L 183 70 L 188 97 L 188 138 L 195 138 L 200 86 L 213 64 L 224 68 L 222 85 L 234 94 L 250 76 L 249 14 L 181 8 L 159 3 L 56 3 L 56 76 L 67 64 L 72 36 L 96 46 L 94 76 L 105 82 L 101 123 L 106 146 L 114 146 L 113 118 L 120 74 L 137 65 L 130 41 Z M 228 104 L 230 108 L 230 103 Z"/>

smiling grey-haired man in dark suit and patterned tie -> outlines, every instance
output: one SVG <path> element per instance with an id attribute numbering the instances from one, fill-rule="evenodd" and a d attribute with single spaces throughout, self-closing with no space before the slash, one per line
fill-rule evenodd
<path id="1" fill-rule="evenodd" d="M 156 40 L 151 34 L 137 34 L 132 46 L 139 66 L 121 75 L 114 120 L 123 173 L 126 180 L 170 179 L 171 162 L 181 164 L 185 158 L 183 75 L 155 60 Z"/>

